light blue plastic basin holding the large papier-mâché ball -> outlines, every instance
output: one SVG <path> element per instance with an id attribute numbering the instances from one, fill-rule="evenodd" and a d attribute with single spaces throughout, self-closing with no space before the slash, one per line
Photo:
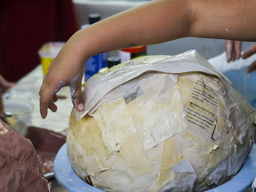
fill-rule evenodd
<path id="1" fill-rule="evenodd" d="M 67 157 L 66 143 L 55 158 L 54 175 L 58 183 L 70 192 L 104 192 L 85 183 L 75 174 Z M 227 183 L 206 192 L 244 192 L 251 186 L 255 177 L 256 145 L 253 145 L 253 149 L 239 173 Z"/>

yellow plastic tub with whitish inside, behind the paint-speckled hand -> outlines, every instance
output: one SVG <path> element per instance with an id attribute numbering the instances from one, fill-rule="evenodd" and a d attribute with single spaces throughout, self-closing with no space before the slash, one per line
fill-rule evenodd
<path id="1" fill-rule="evenodd" d="M 66 42 L 46 42 L 39 50 L 38 55 L 43 67 L 44 75 L 46 75 L 48 68 L 57 57 L 60 50 L 63 48 Z"/>

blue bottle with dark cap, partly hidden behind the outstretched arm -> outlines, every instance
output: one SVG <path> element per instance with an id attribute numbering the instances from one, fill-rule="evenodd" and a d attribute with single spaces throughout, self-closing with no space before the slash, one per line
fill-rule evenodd
<path id="1" fill-rule="evenodd" d="M 89 25 L 101 20 L 101 14 L 92 13 L 89 15 Z M 83 25 L 88 26 L 88 25 Z M 107 67 L 107 58 L 109 53 L 101 53 L 89 58 L 85 63 L 84 80 L 88 81 L 92 75 L 98 73 L 101 68 Z"/>

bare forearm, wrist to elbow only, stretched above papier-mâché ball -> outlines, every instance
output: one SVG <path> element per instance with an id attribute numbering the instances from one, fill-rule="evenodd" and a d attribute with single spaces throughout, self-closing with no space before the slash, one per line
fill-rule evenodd
<path id="1" fill-rule="evenodd" d="M 154 0 L 90 25 L 69 40 L 86 56 L 188 36 L 188 0 Z M 74 47 L 73 47 L 74 48 Z"/>

